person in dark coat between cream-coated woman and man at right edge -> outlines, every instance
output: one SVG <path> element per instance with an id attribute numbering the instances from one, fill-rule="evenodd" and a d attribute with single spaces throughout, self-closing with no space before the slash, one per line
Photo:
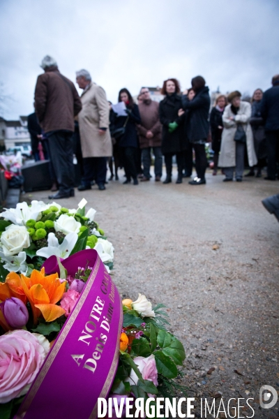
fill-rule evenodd
<path id="1" fill-rule="evenodd" d="M 252 127 L 255 152 L 257 154 L 257 174 L 262 176 L 262 168 L 266 166 L 266 134 L 264 132 L 264 119 L 261 115 L 261 101 L 264 92 L 257 89 L 252 95 L 252 114 L 250 117 L 250 126 Z M 250 168 L 247 176 L 255 176 L 254 167 Z"/>

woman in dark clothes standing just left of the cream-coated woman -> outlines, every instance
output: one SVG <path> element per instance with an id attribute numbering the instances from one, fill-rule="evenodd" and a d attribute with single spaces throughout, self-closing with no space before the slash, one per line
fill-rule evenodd
<path id="1" fill-rule="evenodd" d="M 211 148 L 213 149 L 214 156 L 213 156 L 213 175 L 217 175 L 218 170 L 218 157 L 220 153 L 221 147 L 221 138 L 223 132 L 223 119 L 222 115 L 225 110 L 225 106 L 227 105 L 227 98 L 224 94 L 219 94 L 216 98 L 215 105 L 211 109 L 210 113 L 210 127 L 211 127 Z"/>

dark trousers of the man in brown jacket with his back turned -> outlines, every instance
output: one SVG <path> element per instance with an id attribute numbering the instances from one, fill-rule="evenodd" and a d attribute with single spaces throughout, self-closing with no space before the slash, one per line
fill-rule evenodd
<path id="1" fill-rule="evenodd" d="M 59 184 L 59 191 L 70 194 L 75 184 L 73 164 L 73 133 L 54 131 L 48 136 L 50 160 Z"/>

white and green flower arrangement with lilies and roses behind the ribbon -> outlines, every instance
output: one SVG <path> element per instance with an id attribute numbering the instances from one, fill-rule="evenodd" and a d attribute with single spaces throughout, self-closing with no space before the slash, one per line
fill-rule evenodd
<path id="1" fill-rule="evenodd" d="M 84 200 L 85 201 L 85 200 Z M 86 203 L 86 201 L 85 201 Z M 96 210 L 85 214 L 85 204 L 69 210 L 57 203 L 33 200 L 18 203 L 0 214 L 0 278 L 8 272 L 29 275 L 52 255 L 68 258 L 83 249 L 96 249 L 107 271 L 113 267 L 114 248 L 94 221 Z"/>

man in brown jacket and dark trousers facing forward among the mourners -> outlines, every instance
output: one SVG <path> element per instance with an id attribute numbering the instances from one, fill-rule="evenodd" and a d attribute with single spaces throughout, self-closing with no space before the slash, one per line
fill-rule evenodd
<path id="1" fill-rule="evenodd" d="M 154 172 L 156 182 L 162 177 L 163 156 L 161 149 L 162 126 L 159 119 L 159 103 L 151 101 L 150 92 L 147 87 L 140 90 L 139 103 L 141 124 L 137 124 L 140 134 L 140 148 L 142 149 L 142 163 L 144 165 L 144 177 L 141 182 L 149 181 L 151 166 L 151 150 L 155 156 Z"/>

